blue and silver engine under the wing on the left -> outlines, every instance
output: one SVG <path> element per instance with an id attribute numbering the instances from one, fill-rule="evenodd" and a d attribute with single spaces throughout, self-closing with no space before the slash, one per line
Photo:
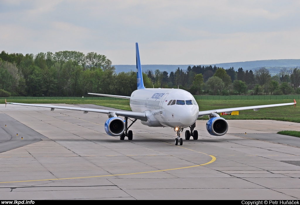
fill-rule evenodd
<path id="1" fill-rule="evenodd" d="M 120 136 L 125 131 L 125 123 L 119 117 L 111 117 L 106 120 L 104 129 L 108 135 Z"/>

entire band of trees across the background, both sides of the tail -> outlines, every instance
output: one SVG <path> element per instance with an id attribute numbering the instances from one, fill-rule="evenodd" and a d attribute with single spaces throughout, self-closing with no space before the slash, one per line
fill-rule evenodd
<path id="1" fill-rule="evenodd" d="M 181 88 L 192 94 L 300 94 L 300 70 L 283 68 L 276 76 L 265 67 L 254 72 L 233 67 L 189 66 L 170 72 L 146 70 L 146 88 Z M 0 53 L 0 96 L 86 96 L 88 92 L 130 96 L 137 89 L 134 71 L 116 73 L 112 62 L 95 52 Z"/>

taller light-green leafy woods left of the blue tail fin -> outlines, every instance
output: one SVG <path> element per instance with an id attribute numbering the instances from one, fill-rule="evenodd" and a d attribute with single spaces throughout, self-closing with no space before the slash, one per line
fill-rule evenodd
<path id="1" fill-rule="evenodd" d="M 151 87 L 144 77 L 145 85 Z M 116 74 L 112 62 L 95 52 L 0 54 L 0 89 L 14 96 L 130 95 L 137 87 L 136 78 L 133 71 Z"/>

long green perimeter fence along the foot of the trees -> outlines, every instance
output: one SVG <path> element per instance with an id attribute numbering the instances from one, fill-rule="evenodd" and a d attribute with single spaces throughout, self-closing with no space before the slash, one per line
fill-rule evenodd
<path id="1" fill-rule="evenodd" d="M 195 95 L 196 100 L 299 100 L 300 95 Z M 11 96 L 0 97 L 0 100 L 126 100 L 115 97 L 26 97 L 26 96 Z"/>

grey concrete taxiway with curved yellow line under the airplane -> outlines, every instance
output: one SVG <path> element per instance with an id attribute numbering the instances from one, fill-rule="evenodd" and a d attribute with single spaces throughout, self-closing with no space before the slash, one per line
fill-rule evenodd
<path id="1" fill-rule="evenodd" d="M 300 138 L 276 134 L 298 123 L 229 120 L 217 137 L 197 120 L 199 139 L 175 146 L 173 129 L 139 120 L 132 141 L 109 136 L 99 113 L 1 105 L 0 117 L 2 200 L 300 198 Z"/>

